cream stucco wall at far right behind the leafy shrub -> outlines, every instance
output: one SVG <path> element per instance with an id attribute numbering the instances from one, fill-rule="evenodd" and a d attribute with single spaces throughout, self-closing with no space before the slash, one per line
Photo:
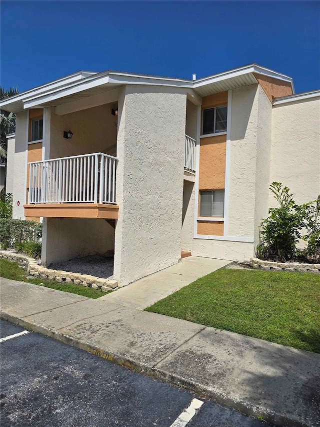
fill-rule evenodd
<path id="1" fill-rule="evenodd" d="M 320 98 L 272 108 L 270 182 L 289 187 L 296 203 L 320 193 Z M 269 192 L 270 206 L 276 201 Z"/>

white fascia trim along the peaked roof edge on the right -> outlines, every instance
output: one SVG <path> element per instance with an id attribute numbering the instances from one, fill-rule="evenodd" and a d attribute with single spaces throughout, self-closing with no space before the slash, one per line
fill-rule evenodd
<path id="1" fill-rule="evenodd" d="M 226 79 L 232 79 L 233 77 L 243 76 L 244 74 L 250 73 L 263 74 L 264 76 L 273 77 L 275 79 L 280 79 L 285 82 L 289 82 L 292 85 L 292 90 L 294 90 L 292 77 L 285 76 L 284 74 L 277 73 L 276 71 L 269 70 L 268 68 L 260 67 L 256 64 L 247 65 L 245 67 L 236 68 L 234 70 L 214 74 L 209 77 L 204 77 L 203 79 L 195 80 L 193 87 L 194 89 L 196 89 L 204 85 L 221 82 Z"/>

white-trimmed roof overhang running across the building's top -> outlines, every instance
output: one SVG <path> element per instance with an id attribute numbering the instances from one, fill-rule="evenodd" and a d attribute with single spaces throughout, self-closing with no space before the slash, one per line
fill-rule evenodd
<path id="1" fill-rule="evenodd" d="M 253 73 L 289 82 L 294 92 L 291 77 L 256 64 L 250 64 L 194 81 L 108 70 L 101 73 L 74 73 L 74 75 L 66 76 L 65 78 L 8 98 L 1 102 L 1 108 L 17 113 L 24 109 L 58 106 L 86 97 L 103 94 L 123 85 L 183 88 L 189 94 L 192 92 L 195 96 L 204 97 L 230 89 L 257 84 L 258 82 Z"/>

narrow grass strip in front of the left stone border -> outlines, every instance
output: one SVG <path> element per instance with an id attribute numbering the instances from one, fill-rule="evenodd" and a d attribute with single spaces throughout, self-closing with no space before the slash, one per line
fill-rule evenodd
<path id="1" fill-rule="evenodd" d="M 72 283 L 57 283 L 52 280 L 43 280 L 36 277 L 30 277 L 19 266 L 17 262 L 9 261 L 7 259 L 0 258 L 0 275 L 7 279 L 18 280 L 20 282 L 33 283 L 34 285 L 45 286 L 46 288 L 56 289 L 63 292 L 75 293 L 77 295 L 86 296 L 88 298 L 99 298 L 100 296 L 106 295 L 106 292 L 102 292 L 98 289 L 87 288 L 81 285 L 74 285 Z"/>

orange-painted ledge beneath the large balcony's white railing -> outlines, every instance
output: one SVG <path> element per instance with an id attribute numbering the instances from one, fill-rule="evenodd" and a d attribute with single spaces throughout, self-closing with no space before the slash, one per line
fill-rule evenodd
<path id="1" fill-rule="evenodd" d="M 48 203 L 23 205 L 24 216 L 44 218 L 118 218 L 118 205 L 100 203 Z"/>

